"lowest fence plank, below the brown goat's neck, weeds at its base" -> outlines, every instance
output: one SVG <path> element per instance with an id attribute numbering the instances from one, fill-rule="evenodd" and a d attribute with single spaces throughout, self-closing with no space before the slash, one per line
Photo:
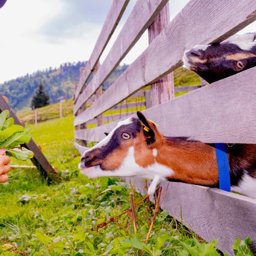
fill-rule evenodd
<path id="1" fill-rule="evenodd" d="M 128 184 L 134 183 L 143 195 L 146 193 L 142 179 L 125 180 Z M 160 183 L 163 187 L 161 198 L 168 183 Z M 245 239 L 247 236 L 252 239 L 251 250 L 256 253 L 256 199 L 220 189 L 170 182 L 161 208 L 167 209 L 179 221 L 181 209 L 184 225 L 206 241 L 219 239 L 217 247 L 229 255 L 233 255 L 232 244 L 236 237 Z"/>

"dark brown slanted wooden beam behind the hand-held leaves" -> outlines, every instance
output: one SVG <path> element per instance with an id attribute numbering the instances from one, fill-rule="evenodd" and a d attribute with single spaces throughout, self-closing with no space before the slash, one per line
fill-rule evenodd
<path id="1" fill-rule="evenodd" d="M 22 125 L 20 120 L 17 118 L 15 113 L 12 111 L 8 103 L 3 99 L 3 96 L 0 94 L 0 111 L 8 110 L 10 113 L 10 117 L 13 117 L 14 123 L 17 125 Z M 52 168 L 47 158 L 35 144 L 34 140 L 31 139 L 29 143 L 23 144 L 23 147 L 34 152 L 34 157 L 31 159 L 32 162 L 37 166 L 38 170 L 43 172 L 44 175 L 55 174 L 56 171 Z"/>

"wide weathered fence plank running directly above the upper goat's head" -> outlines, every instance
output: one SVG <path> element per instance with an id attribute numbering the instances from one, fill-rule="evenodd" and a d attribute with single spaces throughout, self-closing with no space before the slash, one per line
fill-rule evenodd
<path id="1" fill-rule="evenodd" d="M 191 0 L 97 102 L 87 109 L 88 116 L 92 119 L 146 84 L 152 84 L 175 70 L 182 64 L 185 49 L 196 44 L 224 40 L 254 20 L 256 1 L 232 0 L 227 3 L 222 0 Z"/>

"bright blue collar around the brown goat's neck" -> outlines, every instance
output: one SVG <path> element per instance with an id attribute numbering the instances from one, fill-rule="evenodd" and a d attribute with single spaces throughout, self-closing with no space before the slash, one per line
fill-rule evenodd
<path id="1" fill-rule="evenodd" d="M 226 145 L 215 143 L 215 151 L 218 163 L 219 187 L 230 192 L 230 169 L 227 158 Z"/>

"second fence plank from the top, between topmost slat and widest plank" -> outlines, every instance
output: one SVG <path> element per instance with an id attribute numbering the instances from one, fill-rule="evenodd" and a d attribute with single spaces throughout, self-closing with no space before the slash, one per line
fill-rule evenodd
<path id="1" fill-rule="evenodd" d="M 100 84 L 103 84 L 105 80 L 108 79 L 108 76 L 111 75 L 125 55 L 139 40 L 140 36 L 153 22 L 155 17 L 157 17 L 158 13 L 163 9 L 163 6 L 165 6 L 167 2 L 168 0 L 137 0 L 134 9 L 126 20 L 125 25 L 108 53 L 108 56 L 105 58 L 105 61 L 99 68 L 96 76 L 93 77 L 77 99 L 74 107 L 74 114 L 78 111 L 81 105 L 93 95 Z"/>

